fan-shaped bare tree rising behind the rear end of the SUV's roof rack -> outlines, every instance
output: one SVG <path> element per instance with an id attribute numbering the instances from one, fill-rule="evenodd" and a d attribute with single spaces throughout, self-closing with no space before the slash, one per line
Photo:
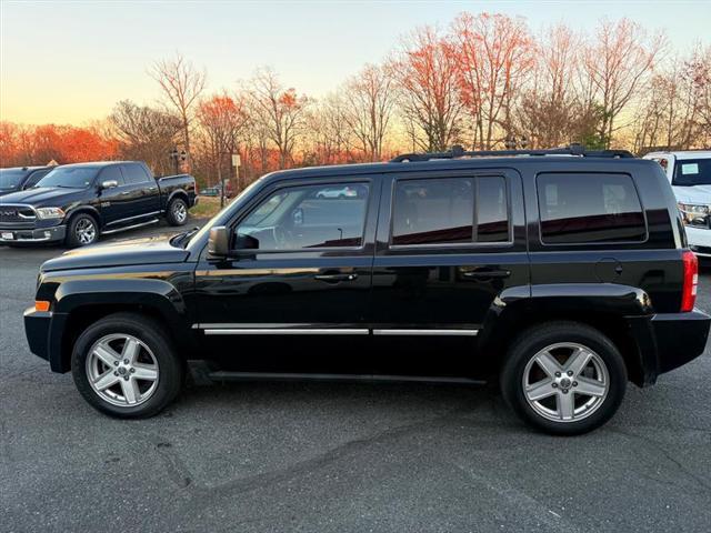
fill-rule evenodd
<path id="1" fill-rule="evenodd" d="M 590 105 L 602 107 L 600 135 L 610 144 L 615 121 L 637 95 L 665 46 L 629 19 L 603 20 L 583 49 L 582 91 Z"/>

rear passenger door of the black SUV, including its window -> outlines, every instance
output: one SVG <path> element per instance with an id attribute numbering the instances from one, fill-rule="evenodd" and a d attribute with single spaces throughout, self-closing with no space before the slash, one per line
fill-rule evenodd
<path id="1" fill-rule="evenodd" d="M 520 175 L 503 169 L 384 180 L 372 318 L 387 356 L 377 372 L 469 371 L 494 301 L 529 284 L 522 198 Z"/>

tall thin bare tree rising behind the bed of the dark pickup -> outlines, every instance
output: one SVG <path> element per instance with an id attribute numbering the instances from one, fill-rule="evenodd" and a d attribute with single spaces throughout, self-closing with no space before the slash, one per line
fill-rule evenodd
<path id="1" fill-rule="evenodd" d="M 193 108 L 204 90 L 207 74 L 197 70 L 180 53 L 153 63 L 149 74 L 160 84 L 169 107 L 176 110 L 182 121 L 183 143 L 190 168 L 190 124 Z"/>

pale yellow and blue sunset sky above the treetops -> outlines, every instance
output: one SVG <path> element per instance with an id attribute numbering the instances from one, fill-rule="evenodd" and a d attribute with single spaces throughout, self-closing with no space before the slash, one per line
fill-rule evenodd
<path id="1" fill-rule="evenodd" d="M 0 120 L 74 123 L 122 99 L 153 103 L 152 61 L 180 51 L 208 71 L 210 90 L 233 88 L 260 66 L 312 97 L 382 60 L 421 24 L 444 28 L 461 11 L 524 17 L 531 29 L 565 22 L 592 30 L 629 17 L 665 30 L 674 51 L 711 42 L 711 2 L 29 2 L 0 0 Z"/>

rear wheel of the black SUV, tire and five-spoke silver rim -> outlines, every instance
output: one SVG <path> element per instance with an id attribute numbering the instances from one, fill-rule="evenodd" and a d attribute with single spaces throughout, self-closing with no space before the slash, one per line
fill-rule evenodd
<path id="1" fill-rule="evenodd" d="M 588 362 L 580 370 L 583 361 Z M 503 399 L 513 412 L 553 435 L 600 428 L 622 403 L 627 381 L 624 360 L 614 343 L 577 322 L 551 322 L 521 333 L 500 374 Z"/>

